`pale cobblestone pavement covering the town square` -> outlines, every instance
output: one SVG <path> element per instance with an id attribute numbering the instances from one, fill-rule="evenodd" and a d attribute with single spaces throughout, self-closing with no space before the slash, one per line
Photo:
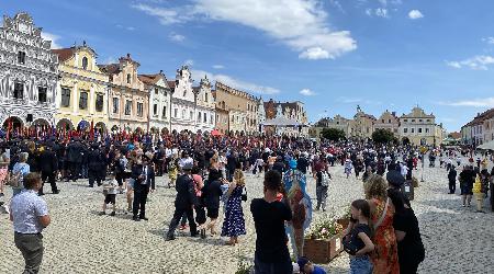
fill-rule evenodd
<path id="1" fill-rule="evenodd" d="M 345 179 L 341 167 L 332 168 L 332 173 L 329 208 L 326 213 L 315 213 L 315 221 L 343 215 L 351 201 L 363 196 L 362 183 L 353 178 Z M 419 178 L 419 171 L 415 175 Z M 249 199 L 261 197 L 261 178 L 251 174 L 247 178 Z M 494 215 L 474 213 L 473 203 L 472 207 L 463 208 L 458 194 L 447 194 L 446 170 L 426 168 L 424 178 L 412 204 L 427 249 L 419 272 L 494 273 Z M 44 231 L 45 255 L 41 272 L 235 273 L 240 260 L 252 260 L 256 235 L 249 203 L 243 204 L 247 236 L 240 238 L 238 246 L 225 247 L 226 239 L 220 237 L 201 240 L 179 236 L 176 241 L 165 242 L 175 190 L 165 187 L 162 178 L 157 183 L 157 192 L 150 194 L 147 204 L 149 220 L 141 222 L 132 221 L 131 215 L 124 214 L 125 195 L 117 195 L 120 209 L 115 217 L 98 216 L 103 202 L 101 189 L 89 189 L 82 180 L 59 183 L 60 194 L 44 196 L 52 225 Z M 49 186 L 45 187 L 48 191 Z M 308 191 L 315 198 L 312 179 Z M 11 192 L 5 196 L 10 197 Z M 0 273 L 21 273 L 23 260 L 13 243 L 7 214 L 0 215 Z M 329 273 L 348 273 L 348 256 L 343 253 L 324 266 Z"/>

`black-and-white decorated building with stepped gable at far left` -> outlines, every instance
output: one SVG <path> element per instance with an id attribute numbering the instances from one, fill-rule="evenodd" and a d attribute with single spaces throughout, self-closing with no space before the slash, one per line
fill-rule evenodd
<path id="1" fill-rule="evenodd" d="M 3 16 L 0 27 L 0 122 L 53 125 L 58 58 L 30 14 Z"/>

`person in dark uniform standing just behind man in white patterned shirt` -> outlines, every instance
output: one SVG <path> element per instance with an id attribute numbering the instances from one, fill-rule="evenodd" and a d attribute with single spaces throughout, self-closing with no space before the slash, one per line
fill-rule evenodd
<path id="1" fill-rule="evenodd" d="M 37 195 L 44 195 L 43 186 L 45 185 L 46 180 L 48 180 L 48 183 L 52 186 L 53 194 L 58 194 L 60 191 L 57 189 L 55 179 L 55 175 L 58 172 L 58 159 L 52 149 L 52 144 L 47 144 L 45 150 L 41 152 L 38 158 L 38 167 L 42 174 L 43 184 L 37 192 Z"/>

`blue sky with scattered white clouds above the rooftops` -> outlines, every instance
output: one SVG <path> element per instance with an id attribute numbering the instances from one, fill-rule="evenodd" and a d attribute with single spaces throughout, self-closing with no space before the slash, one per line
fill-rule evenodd
<path id="1" fill-rule="evenodd" d="M 131 53 L 169 79 L 189 64 L 311 122 L 357 104 L 379 116 L 416 104 L 458 130 L 494 106 L 491 0 L 3 0 L 59 47 L 86 41 L 98 62 Z"/>

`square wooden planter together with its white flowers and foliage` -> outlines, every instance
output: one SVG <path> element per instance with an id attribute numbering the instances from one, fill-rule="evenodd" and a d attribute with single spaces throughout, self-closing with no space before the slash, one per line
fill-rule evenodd
<path id="1" fill-rule="evenodd" d="M 305 237 L 304 256 L 314 263 L 328 263 L 343 251 L 343 230 L 334 219 L 316 224 Z"/>

